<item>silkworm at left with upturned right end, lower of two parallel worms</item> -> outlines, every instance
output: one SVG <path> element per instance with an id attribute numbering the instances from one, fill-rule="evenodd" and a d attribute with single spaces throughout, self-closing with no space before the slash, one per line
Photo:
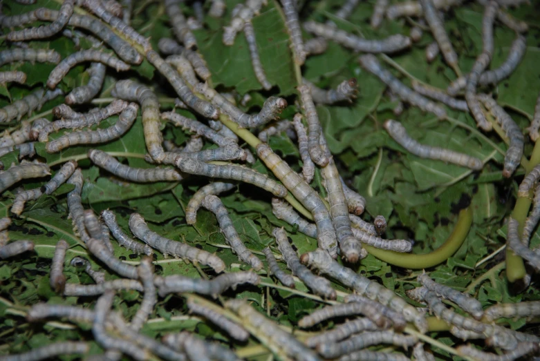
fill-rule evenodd
<path id="1" fill-rule="evenodd" d="M 131 128 L 137 117 L 138 110 L 139 106 L 137 104 L 130 103 L 127 108 L 122 110 L 122 113 L 120 113 L 118 120 L 113 126 L 87 132 L 78 131 L 64 135 L 52 142 L 48 142 L 45 149 L 48 153 L 56 153 L 64 148 L 76 146 L 78 144 L 99 144 L 118 139 Z"/>

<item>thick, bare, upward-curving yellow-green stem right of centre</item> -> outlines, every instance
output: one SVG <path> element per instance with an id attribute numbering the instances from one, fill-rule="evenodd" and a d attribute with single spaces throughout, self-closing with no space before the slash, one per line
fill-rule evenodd
<path id="1" fill-rule="evenodd" d="M 375 257 L 392 264 L 393 266 L 404 267 L 406 269 L 427 269 L 436 266 L 448 259 L 456 253 L 460 246 L 465 242 L 467 233 L 472 225 L 472 210 L 466 208 L 460 211 L 458 222 L 454 231 L 447 238 L 445 243 L 435 251 L 424 255 L 414 255 L 411 253 L 399 253 L 394 251 L 386 251 L 364 244 L 364 248 Z"/>

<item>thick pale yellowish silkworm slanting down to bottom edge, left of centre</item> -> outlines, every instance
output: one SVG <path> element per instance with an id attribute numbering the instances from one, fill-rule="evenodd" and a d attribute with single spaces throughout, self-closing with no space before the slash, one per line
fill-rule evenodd
<path id="1" fill-rule="evenodd" d="M 266 347 L 277 355 L 288 355 L 292 360 L 318 361 L 321 360 L 313 351 L 301 344 L 296 338 L 290 337 L 290 333 L 283 331 L 279 325 L 257 312 L 245 300 L 228 300 L 225 307 L 239 315 L 241 320 L 248 325 L 248 329 L 256 330 L 254 336 L 266 343 Z M 252 332 L 253 333 L 253 332 Z"/>

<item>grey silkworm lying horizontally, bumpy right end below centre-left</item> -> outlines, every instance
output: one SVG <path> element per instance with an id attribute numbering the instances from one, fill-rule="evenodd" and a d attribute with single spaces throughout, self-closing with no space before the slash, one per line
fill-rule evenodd
<path id="1" fill-rule="evenodd" d="M 184 275 L 169 275 L 167 277 L 156 277 L 154 283 L 158 286 L 158 293 L 165 297 L 169 293 L 199 293 L 210 295 L 216 298 L 227 289 L 236 289 L 240 284 L 257 285 L 261 278 L 254 272 L 233 272 L 218 275 L 212 280 L 186 277 Z"/>

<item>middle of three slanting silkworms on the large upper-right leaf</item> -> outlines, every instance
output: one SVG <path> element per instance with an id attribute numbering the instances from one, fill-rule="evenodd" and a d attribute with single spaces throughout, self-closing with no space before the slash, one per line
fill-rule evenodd
<path id="1" fill-rule="evenodd" d="M 401 81 L 395 78 L 391 72 L 382 68 L 375 55 L 366 54 L 359 58 L 360 65 L 373 75 L 381 79 L 384 84 L 387 84 L 389 88 L 403 101 L 407 101 L 413 106 L 418 106 L 421 110 L 429 113 L 434 113 L 438 118 L 443 119 L 446 117 L 446 110 L 430 101 L 429 99 L 422 97 L 411 90 L 408 86 L 405 86 Z"/>

